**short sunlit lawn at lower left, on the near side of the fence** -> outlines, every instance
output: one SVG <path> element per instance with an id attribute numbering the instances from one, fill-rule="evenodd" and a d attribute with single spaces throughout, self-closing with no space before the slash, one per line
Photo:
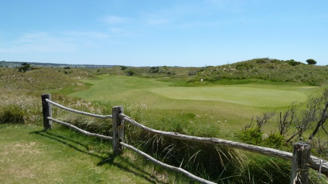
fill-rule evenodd
<path id="1" fill-rule="evenodd" d="M 0 183 L 161 183 L 131 155 L 113 157 L 108 142 L 42 130 L 0 124 Z"/>

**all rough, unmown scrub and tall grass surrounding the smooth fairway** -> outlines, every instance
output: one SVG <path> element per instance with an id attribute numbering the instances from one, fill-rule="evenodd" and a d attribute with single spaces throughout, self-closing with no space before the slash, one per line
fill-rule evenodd
<path id="1" fill-rule="evenodd" d="M 71 68 L 69 70 L 63 68 L 40 68 L 40 70 L 27 71 L 26 73 L 18 72 L 17 68 L 0 68 L 0 101 L 2 102 L 0 104 L 0 124 L 33 124 L 42 127 L 40 94 L 51 91 L 53 101 L 77 110 L 108 114 L 112 106 L 123 104 L 125 106 L 125 114 L 154 129 L 175 131 L 196 136 L 223 137 L 224 139 L 227 132 L 207 124 L 207 122 L 213 121 L 210 113 L 199 116 L 193 112 L 168 111 L 166 114 L 160 115 L 156 110 L 147 108 L 147 105 L 143 102 L 132 103 L 125 100 L 119 102 L 111 100 L 89 102 L 83 99 L 67 97 L 55 91 L 65 87 L 86 86 L 86 84 L 77 80 L 80 78 L 95 79 L 97 78 L 97 74 L 127 75 L 127 71 L 134 71 L 134 75 L 143 77 L 186 78 L 190 83 L 192 81 L 198 81 L 201 78 L 207 81 L 222 79 L 261 79 L 302 82 L 312 85 L 324 85 L 328 83 L 327 66 L 306 65 L 294 60 L 254 59 L 229 65 L 204 68 L 167 66 L 127 67 L 124 70 L 123 68 L 123 66 L 99 68 L 97 70 L 91 70 L 89 68 Z M 320 113 L 322 112 L 320 110 L 323 109 L 322 105 L 326 101 L 321 100 L 321 102 L 320 106 L 314 106 L 318 111 L 315 113 L 316 116 L 311 117 L 313 118 L 311 119 L 313 123 L 306 129 L 310 133 L 307 134 L 305 131 L 300 131 L 302 134 L 296 134 L 293 140 L 301 140 L 304 135 L 310 135 L 312 133 L 313 127 L 316 125 L 315 123 L 320 119 L 319 115 L 322 114 Z M 309 99 L 308 104 L 311 104 L 311 99 Z M 292 107 L 295 107 L 295 113 L 288 113 L 291 110 L 293 111 Z M 287 137 L 288 134 L 286 132 L 291 133 L 294 130 L 298 132 L 296 130 L 302 127 L 298 123 L 306 122 L 304 119 L 306 117 L 302 116 L 306 110 L 311 111 L 308 107 L 298 108 L 297 105 L 293 106 L 291 104 L 289 109 L 284 109 L 281 113 L 267 112 L 257 115 L 254 118 L 254 125 L 250 122 L 247 127 L 240 128 L 242 130 L 230 132 L 230 134 L 233 134 L 230 137 L 249 144 L 291 151 L 290 144 L 292 141 L 287 141 L 289 137 Z M 153 114 L 156 114 L 156 117 Z M 285 119 L 283 119 L 284 114 L 287 114 Z M 111 125 L 108 121 L 81 117 L 58 108 L 53 109 L 53 117 L 92 132 L 111 135 Z M 293 121 L 289 121 L 291 119 Z M 283 124 L 284 120 L 286 124 Z M 277 126 L 281 131 L 270 132 L 265 128 L 266 126 Z M 323 129 L 319 132 L 324 134 L 325 124 L 320 124 L 320 127 Z M 284 183 L 290 180 L 291 164 L 280 159 L 226 147 L 174 140 L 146 133 L 132 126 L 126 126 L 125 128 L 125 132 L 127 132 L 125 141 L 127 143 L 135 145 L 165 163 L 185 168 L 200 177 L 214 182 Z M 326 159 L 327 148 L 326 144 L 324 144 L 326 140 L 322 136 L 320 139 L 318 140 L 318 136 L 316 136 L 311 142 L 313 153 Z M 133 155 L 133 157 L 135 159 L 142 159 L 136 155 Z M 144 165 L 146 166 L 147 164 L 146 161 Z M 154 169 L 155 172 L 162 173 L 156 167 Z M 174 173 L 169 174 L 174 175 Z M 312 183 L 327 182 L 326 178 L 318 179 L 315 171 L 311 170 L 311 174 Z M 170 182 L 189 183 L 191 181 L 177 174 L 175 181 Z"/>

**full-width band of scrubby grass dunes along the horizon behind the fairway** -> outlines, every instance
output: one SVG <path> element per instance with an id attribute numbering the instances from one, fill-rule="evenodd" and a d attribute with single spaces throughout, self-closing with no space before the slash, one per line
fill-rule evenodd
<path id="1" fill-rule="evenodd" d="M 166 77 L 166 78 L 186 78 L 188 82 L 200 81 L 209 82 L 221 79 L 261 79 L 277 82 L 301 82 L 310 85 L 328 84 L 328 65 L 317 66 L 304 64 L 294 60 L 278 60 L 268 58 L 251 59 L 219 66 L 207 67 L 179 67 L 179 66 L 112 66 L 99 68 L 76 68 L 76 67 L 40 67 L 26 73 L 18 72 L 17 68 L 0 67 L 0 84 L 6 86 L 22 87 L 23 83 L 39 84 L 39 81 L 31 81 L 33 75 L 44 79 L 61 81 L 61 87 L 76 82 L 81 78 L 96 78 L 97 75 L 136 75 L 142 77 Z M 15 79 L 14 83 L 10 78 Z M 43 86 L 47 89 L 50 86 Z M 57 88 L 59 86 L 52 86 Z M 34 88 L 34 87 L 32 87 Z"/>

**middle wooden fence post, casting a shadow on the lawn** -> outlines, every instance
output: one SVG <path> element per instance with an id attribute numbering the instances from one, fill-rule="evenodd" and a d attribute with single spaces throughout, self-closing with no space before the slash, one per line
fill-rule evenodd
<path id="1" fill-rule="evenodd" d="M 113 152 L 119 155 L 123 151 L 123 147 L 119 144 L 124 140 L 124 120 L 119 118 L 119 114 L 123 113 L 123 106 L 114 106 L 112 108 L 113 116 Z"/>

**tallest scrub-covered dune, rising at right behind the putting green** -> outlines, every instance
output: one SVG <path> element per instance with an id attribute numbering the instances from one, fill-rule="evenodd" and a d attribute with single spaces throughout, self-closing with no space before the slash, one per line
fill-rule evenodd
<path id="1" fill-rule="evenodd" d="M 220 79 L 263 79 L 279 82 L 302 82 L 311 85 L 328 83 L 328 66 L 304 64 L 294 60 L 252 59 L 221 66 L 208 66 L 190 81 Z"/>

